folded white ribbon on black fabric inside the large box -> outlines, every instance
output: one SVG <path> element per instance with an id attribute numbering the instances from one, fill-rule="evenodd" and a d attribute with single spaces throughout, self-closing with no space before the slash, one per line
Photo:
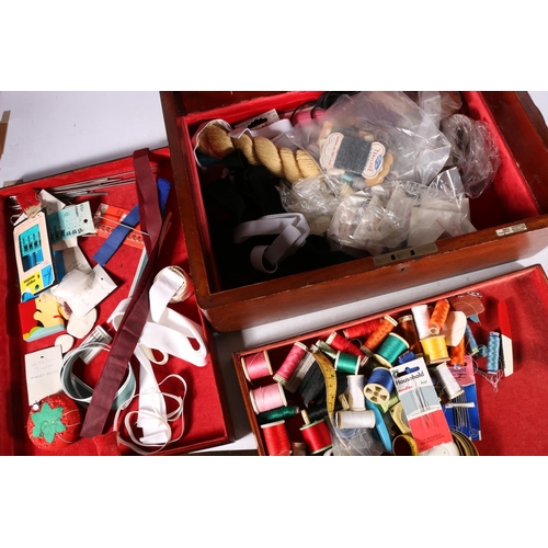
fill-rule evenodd
<path id="1" fill-rule="evenodd" d="M 238 225 L 233 241 L 241 243 L 253 236 L 278 235 L 271 246 L 255 246 L 250 256 L 254 269 L 272 274 L 276 272 L 278 262 L 304 246 L 309 233 L 308 222 L 300 213 L 265 215 Z"/>

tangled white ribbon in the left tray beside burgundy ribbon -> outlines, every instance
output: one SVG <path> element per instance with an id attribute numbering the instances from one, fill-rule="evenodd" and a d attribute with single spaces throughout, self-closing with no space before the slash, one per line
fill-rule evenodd
<path id="1" fill-rule="evenodd" d="M 168 267 L 158 274 L 149 292 L 149 317 L 134 351 L 140 364 L 139 411 L 137 412 L 137 426 L 142 429 L 144 434 L 140 441 L 137 441 L 133 434 L 128 416 L 125 419 L 132 439 L 144 446 L 165 446 L 170 442 L 169 422 L 181 416 L 183 404 L 181 398 L 160 391 L 151 362 L 163 365 L 171 355 L 197 367 L 203 367 L 208 363 L 202 327 L 168 307 L 169 302 L 182 300 L 189 295 L 186 290 L 182 290 L 183 286 L 189 287 L 187 284 L 189 281 L 182 270 Z M 122 300 L 109 318 L 114 329 L 117 330 L 129 301 L 129 298 Z M 162 358 L 157 359 L 153 351 L 160 353 Z M 184 384 L 186 392 L 184 379 L 176 375 L 175 377 Z M 179 401 L 181 412 L 168 414 L 164 397 Z"/>

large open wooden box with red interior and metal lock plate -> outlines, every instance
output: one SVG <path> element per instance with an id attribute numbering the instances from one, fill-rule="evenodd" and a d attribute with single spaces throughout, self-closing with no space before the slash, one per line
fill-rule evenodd
<path id="1" fill-rule="evenodd" d="M 461 112 L 489 124 L 500 150 L 493 184 L 470 201 L 477 231 L 408 249 L 242 285 L 219 274 L 192 136 L 206 121 L 235 124 L 276 109 L 290 113 L 319 92 L 161 92 L 197 304 L 214 329 L 236 331 L 478 271 L 535 254 L 548 242 L 546 126 L 528 95 L 461 92 Z M 243 279 L 243 277 L 242 277 Z"/>

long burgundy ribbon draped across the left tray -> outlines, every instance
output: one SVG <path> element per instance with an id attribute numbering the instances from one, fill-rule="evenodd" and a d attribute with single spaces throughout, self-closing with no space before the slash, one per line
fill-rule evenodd
<path id="1" fill-rule="evenodd" d="M 95 437 L 103 432 L 116 392 L 127 373 L 127 364 L 132 359 L 148 317 L 148 292 L 153 278 L 152 274 L 159 251 L 158 242 L 162 230 L 158 186 L 148 152 L 148 149 L 140 149 L 133 155 L 139 218 L 145 232 L 148 261 L 114 336 L 101 378 L 93 391 L 82 425 L 81 435 L 83 437 Z"/>

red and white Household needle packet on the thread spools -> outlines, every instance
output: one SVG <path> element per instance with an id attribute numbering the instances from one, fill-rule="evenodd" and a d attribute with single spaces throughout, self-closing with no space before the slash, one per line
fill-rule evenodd
<path id="1" fill-rule="evenodd" d="M 424 358 L 395 366 L 390 373 L 419 453 L 453 442 Z"/>

